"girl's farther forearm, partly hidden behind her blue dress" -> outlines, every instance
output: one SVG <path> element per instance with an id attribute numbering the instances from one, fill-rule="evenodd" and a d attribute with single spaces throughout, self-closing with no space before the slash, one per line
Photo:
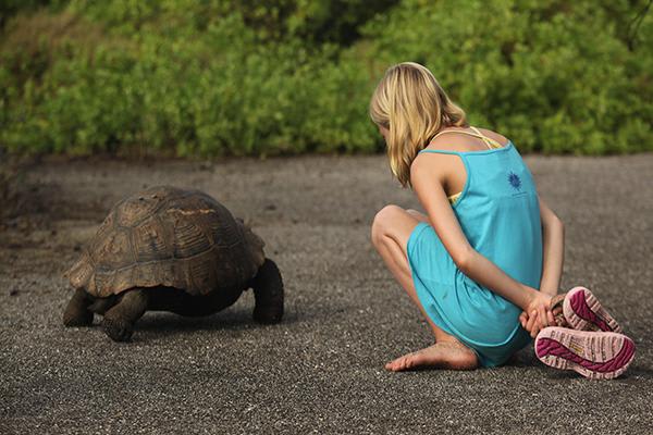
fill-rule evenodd
<path id="1" fill-rule="evenodd" d="M 557 295 L 563 276 L 565 259 L 565 226 L 563 221 L 540 199 L 540 217 L 542 220 L 542 281 L 540 291 Z"/>

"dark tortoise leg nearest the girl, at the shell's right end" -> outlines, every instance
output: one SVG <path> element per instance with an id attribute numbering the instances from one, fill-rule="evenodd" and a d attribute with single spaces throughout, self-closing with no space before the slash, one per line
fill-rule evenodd
<path id="1" fill-rule="evenodd" d="M 283 281 L 274 261 L 266 259 L 251 284 L 256 306 L 254 320 L 279 323 L 283 316 Z"/>

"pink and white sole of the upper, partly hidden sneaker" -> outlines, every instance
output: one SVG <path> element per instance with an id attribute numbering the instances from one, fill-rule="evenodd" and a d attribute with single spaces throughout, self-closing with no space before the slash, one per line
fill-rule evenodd
<path id="1" fill-rule="evenodd" d="M 565 297 L 563 314 L 569 326 L 579 331 L 619 333 L 624 330 L 603 308 L 599 299 L 584 287 L 575 287 Z"/>

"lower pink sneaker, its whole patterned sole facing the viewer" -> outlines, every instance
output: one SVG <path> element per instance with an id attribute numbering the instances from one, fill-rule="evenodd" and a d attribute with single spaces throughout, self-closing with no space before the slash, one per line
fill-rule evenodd
<path id="1" fill-rule="evenodd" d="M 634 343 L 624 334 L 545 327 L 535 338 L 535 355 L 546 365 L 574 370 L 591 380 L 612 380 L 634 358 Z"/>

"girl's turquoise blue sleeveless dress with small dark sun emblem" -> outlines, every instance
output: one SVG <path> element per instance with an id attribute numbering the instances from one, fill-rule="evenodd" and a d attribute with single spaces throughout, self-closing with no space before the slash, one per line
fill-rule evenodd
<path id="1" fill-rule="evenodd" d="M 460 157 L 467 182 L 452 208 L 467 239 L 512 278 L 539 288 L 540 206 L 532 175 L 513 142 L 484 151 L 420 152 Z M 415 227 L 407 254 L 427 314 L 476 351 L 482 366 L 500 365 L 530 343 L 519 323 L 521 310 L 460 272 L 431 225 Z"/>

